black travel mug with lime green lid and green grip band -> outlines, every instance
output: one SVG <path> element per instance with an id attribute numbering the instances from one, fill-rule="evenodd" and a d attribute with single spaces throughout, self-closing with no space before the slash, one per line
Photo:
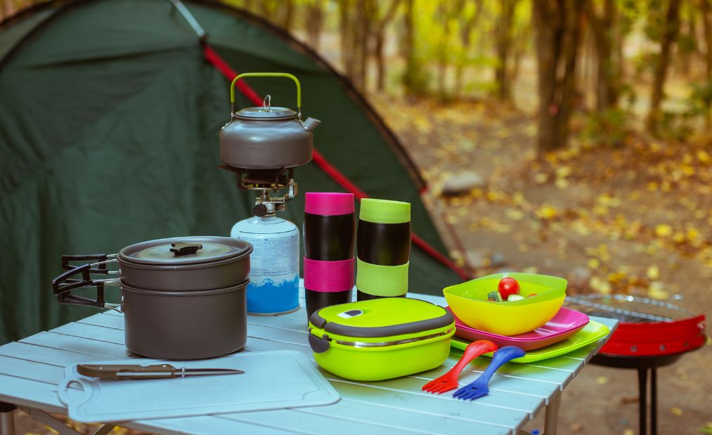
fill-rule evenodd
<path id="1" fill-rule="evenodd" d="M 357 300 L 404 296 L 408 292 L 410 204 L 362 199 L 356 247 Z"/>

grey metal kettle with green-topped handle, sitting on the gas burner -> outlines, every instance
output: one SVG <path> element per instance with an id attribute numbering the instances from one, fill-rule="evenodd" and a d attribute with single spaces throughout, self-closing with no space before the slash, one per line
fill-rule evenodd
<path id="1" fill-rule="evenodd" d="M 244 77 L 286 77 L 297 87 L 297 111 L 271 106 L 267 95 L 262 107 L 235 112 L 235 83 Z M 230 85 L 230 121 L 220 132 L 220 159 L 234 172 L 250 169 L 289 169 L 312 159 L 313 131 L 319 120 L 302 120 L 302 90 L 288 73 L 244 73 Z"/>

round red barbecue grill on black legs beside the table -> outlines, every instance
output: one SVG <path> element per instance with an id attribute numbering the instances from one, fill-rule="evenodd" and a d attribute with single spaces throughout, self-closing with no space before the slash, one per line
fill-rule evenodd
<path id="1" fill-rule="evenodd" d="M 619 320 L 618 328 L 592 362 L 638 370 L 640 434 L 647 434 L 650 372 L 650 433 L 657 434 L 656 369 L 670 365 L 707 340 L 705 316 L 671 303 L 629 295 L 567 296 L 567 308 Z"/>

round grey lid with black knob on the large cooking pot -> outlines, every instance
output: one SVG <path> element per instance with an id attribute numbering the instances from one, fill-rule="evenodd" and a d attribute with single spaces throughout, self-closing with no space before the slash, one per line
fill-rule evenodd
<path id="1" fill-rule="evenodd" d="M 248 256 L 252 245 L 219 236 L 187 236 L 143 241 L 119 252 L 122 261 L 155 266 L 211 263 Z"/>

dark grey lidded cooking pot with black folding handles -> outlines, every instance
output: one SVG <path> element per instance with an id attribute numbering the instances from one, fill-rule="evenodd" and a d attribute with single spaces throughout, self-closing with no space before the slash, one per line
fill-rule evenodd
<path id="1" fill-rule="evenodd" d="M 247 340 L 246 287 L 252 246 L 230 237 L 179 237 L 136 243 L 119 253 L 63 256 L 52 281 L 60 303 L 124 314 L 128 350 L 146 357 L 197 360 L 241 349 Z M 70 261 L 93 261 L 78 267 Z M 107 264 L 117 262 L 119 271 Z M 94 279 L 93 274 L 120 278 Z M 78 278 L 80 276 L 80 278 Z M 106 303 L 104 285 L 120 287 Z M 96 298 L 73 290 L 94 286 Z"/>

